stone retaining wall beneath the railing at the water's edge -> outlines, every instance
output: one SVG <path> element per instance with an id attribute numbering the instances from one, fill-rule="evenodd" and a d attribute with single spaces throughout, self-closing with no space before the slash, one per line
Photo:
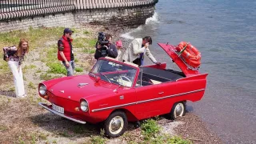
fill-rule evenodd
<path id="1" fill-rule="evenodd" d="M 30 26 L 38 28 L 41 26 L 72 27 L 75 25 L 111 25 L 136 27 L 146 22 L 154 14 L 154 0 L 138 5 L 139 2 L 130 2 L 129 6 L 109 5 L 107 8 L 94 8 L 88 10 L 77 10 L 57 14 L 46 14 L 41 16 L 10 19 L 0 21 L 0 33 L 12 30 L 27 30 Z M 133 5 L 135 3 L 136 5 Z M 96 6 L 96 5 L 95 5 Z M 115 7 L 118 6 L 118 7 Z"/>

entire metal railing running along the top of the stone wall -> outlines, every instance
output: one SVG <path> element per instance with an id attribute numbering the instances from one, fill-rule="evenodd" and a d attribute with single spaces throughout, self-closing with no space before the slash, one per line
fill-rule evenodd
<path id="1" fill-rule="evenodd" d="M 154 5 L 158 0 L 0 0 L 0 21 L 67 11 Z"/>

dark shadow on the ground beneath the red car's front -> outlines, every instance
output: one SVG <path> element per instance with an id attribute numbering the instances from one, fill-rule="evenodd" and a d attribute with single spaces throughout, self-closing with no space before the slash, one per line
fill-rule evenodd
<path id="1" fill-rule="evenodd" d="M 30 120 L 34 125 L 54 134 L 55 137 L 66 137 L 71 140 L 100 135 L 103 127 L 103 123 L 86 123 L 83 125 L 58 115 L 51 114 L 50 112 L 32 116 L 30 117 Z M 138 128 L 136 127 L 136 122 L 129 122 L 127 131 L 136 128 Z"/>

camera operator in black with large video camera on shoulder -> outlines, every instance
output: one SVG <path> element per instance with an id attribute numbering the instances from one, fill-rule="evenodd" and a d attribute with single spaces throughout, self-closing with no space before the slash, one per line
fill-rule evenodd
<path id="1" fill-rule="evenodd" d="M 117 58 L 118 50 L 114 44 L 112 44 L 112 35 L 99 33 L 98 42 L 96 43 L 96 51 L 94 58 L 98 60 L 101 57 Z"/>

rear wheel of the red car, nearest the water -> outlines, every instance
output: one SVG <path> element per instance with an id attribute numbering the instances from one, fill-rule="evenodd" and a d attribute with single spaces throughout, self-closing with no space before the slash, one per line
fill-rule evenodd
<path id="1" fill-rule="evenodd" d="M 174 103 L 170 111 L 170 119 L 175 119 L 177 117 L 182 117 L 186 114 L 186 102 Z"/>

